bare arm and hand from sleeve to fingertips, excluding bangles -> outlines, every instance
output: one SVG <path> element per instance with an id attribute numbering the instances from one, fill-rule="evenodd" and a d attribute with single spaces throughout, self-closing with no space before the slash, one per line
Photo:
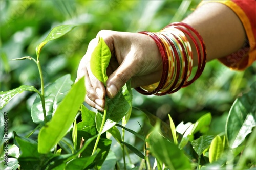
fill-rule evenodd
<path id="1" fill-rule="evenodd" d="M 202 5 L 183 22 L 194 27 L 203 37 L 208 61 L 236 52 L 243 47 L 246 40 L 240 19 L 223 4 Z M 150 37 L 139 33 L 107 30 L 99 32 L 98 36 L 109 46 L 112 59 L 107 70 L 109 79 L 104 87 L 90 70 L 91 53 L 97 45 L 97 40 L 92 40 L 77 71 L 77 79 L 86 76 L 85 101 L 89 105 L 102 111 L 105 95 L 113 98 L 130 78 L 133 87 L 149 85 L 161 79 L 162 58 Z M 192 48 L 194 56 L 197 56 L 195 47 Z M 194 59 L 197 60 L 196 57 Z"/>

